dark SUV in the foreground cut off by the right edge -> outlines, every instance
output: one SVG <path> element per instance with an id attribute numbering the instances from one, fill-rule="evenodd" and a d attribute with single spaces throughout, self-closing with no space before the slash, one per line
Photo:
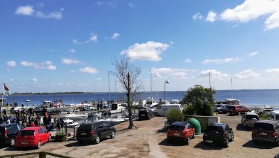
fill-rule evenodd
<path id="1" fill-rule="evenodd" d="M 252 128 L 252 142 L 268 141 L 279 146 L 279 122 L 271 120 L 260 120 L 255 122 Z"/>

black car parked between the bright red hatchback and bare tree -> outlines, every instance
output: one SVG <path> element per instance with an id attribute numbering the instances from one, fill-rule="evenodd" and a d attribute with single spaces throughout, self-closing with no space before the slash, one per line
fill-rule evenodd
<path id="1" fill-rule="evenodd" d="M 84 122 L 77 128 L 76 139 L 79 143 L 92 141 L 95 144 L 100 143 L 101 138 L 114 138 L 116 129 L 105 122 Z"/>

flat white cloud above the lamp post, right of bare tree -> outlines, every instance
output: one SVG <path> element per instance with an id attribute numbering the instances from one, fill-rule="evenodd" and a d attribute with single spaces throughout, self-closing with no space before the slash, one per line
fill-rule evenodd
<path id="1" fill-rule="evenodd" d="M 163 78 L 167 76 L 173 76 L 173 77 L 186 77 L 187 72 L 194 71 L 194 70 L 188 70 L 188 69 L 172 69 L 172 68 L 151 68 L 151 74 L 155 75 L 157 78 Z"/>

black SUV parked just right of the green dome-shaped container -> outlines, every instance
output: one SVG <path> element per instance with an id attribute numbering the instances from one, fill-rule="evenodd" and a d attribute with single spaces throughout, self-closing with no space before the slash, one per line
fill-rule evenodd
<path id="1" fill-rule="evenodd" d="M 229 141 L 234 141 L 234 131 L 225 123 L 213 123 L 206 126 L 203 136 L 204 144 L 209 143 L 229 147 Z"/>

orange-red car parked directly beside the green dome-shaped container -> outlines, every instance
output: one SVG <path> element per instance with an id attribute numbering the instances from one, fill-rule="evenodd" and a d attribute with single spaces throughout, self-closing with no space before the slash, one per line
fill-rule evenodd
<path id="1" fill-rule="evenodd" d="M 195 127 L 186 122 L 174 122 L 167 131 L 167 141 L 183 141 L 186 145 L 195 138 Z"/>

